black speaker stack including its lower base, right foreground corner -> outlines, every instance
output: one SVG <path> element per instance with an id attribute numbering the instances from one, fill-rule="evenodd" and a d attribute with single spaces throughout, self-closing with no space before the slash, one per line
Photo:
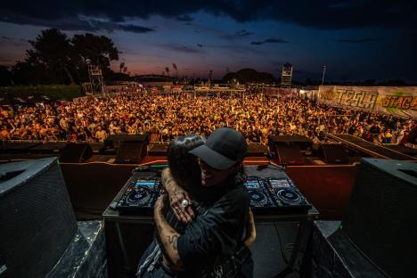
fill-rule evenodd
<path id="1" fill-rule="evenodd" d="M 415 277 L 416 200 L 416 163 L 362 159 L 341 225 L 315 230 L 318 275 Z"/>

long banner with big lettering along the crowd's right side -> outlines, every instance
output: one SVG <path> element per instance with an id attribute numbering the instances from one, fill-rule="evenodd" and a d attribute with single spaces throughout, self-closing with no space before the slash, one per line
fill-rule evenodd
<path id="1" fill-rule="evenodd" d="M 335 107 L 417 119 L 416 86 L 320 86 L 318 100 Z"/>

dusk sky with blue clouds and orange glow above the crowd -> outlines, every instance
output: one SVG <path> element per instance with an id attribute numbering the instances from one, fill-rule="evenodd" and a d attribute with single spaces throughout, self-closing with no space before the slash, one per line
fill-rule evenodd
<path id="1" fill-rule="evenodd" d="M 0 64 L 23 60 L 42 29 L 110 37 L 131 74 L 206 78 L 253 68 L 278 77 L 417 82 L 416 1 L 7 1 Z"/>

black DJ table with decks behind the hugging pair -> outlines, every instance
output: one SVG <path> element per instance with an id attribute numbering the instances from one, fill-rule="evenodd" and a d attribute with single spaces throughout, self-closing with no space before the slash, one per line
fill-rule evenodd
<path id="1" fill-rule="evenodd" d="M 153 204 L 159 196 L 160 172 L 166 167 L 136 168 L 103 212 L 110 277 L 133 277 L 139 258 L 151 243 Z M 244 184 L 257 224 L 298 222 L 294 248 L 283 277 L 293 267 L 301 265 L 304 254 L 311 247 L 314 220 L 319 213 L 282 168 L 274 165 L 245 166 L 245 173 Z"/>

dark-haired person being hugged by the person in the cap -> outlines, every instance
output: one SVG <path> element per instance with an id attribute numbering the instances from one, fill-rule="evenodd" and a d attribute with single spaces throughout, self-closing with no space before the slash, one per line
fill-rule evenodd
<path id="1" fill-rule="evenodd" d="M 164 178 L 169 178 L 169 184 L 180 185 L 182 192 L 191 197 L 191 200 L 183 199 L 178 206 L 183 208 L 192 208 L 196 215 L 204 214 L 210 207 L 210 200 L 204 194 L 200 194 L 200 166 L 195 156 L 188 151 L 200 146 L 205 142 L 199 135 L 186 135 L 176 137 L 169 143 L 168 146 L 168 166 L 162 175 L 163 184 L 167 184 Z M 186 221 L 181 221 L 180 217 L 176 216 L 178 207 L 169 208 L 168 199 L 164 198 L 164 206 L 168 209 L 164 213 L 164 217 L 168 224 L 173 227 L 177 233 L 184 233 L 184 228 L 187 225 Z M 191 218 L 194 217 L 193 211 Z M 191 221 L 190 218 L 190 221 Z M 253 215 L 249 212 L 249 226 L 246 233 L 244 244 L 250 247 L 256 238 L 256 228 L 253 220 Z M 239 250 L 238 250 L 239 251 Z M 241 252 L 241 251 L 240 251 Z M 137 277 L 172 277 L 182 273 L 182 269 L 174 266 L 165 255 L 166 250 L 161 244 L 159 233 L 156 233 L 154 241 L 144 251 L 142 258 L 137 266 Z M 239 256 L 239 254 L 237 254 Z M 223 267 L 224 266 L 217 266 Z M 213 273 L 216 271 L 214 270 Z M 208 275 L 210 277 L 210 275 Z"/>

